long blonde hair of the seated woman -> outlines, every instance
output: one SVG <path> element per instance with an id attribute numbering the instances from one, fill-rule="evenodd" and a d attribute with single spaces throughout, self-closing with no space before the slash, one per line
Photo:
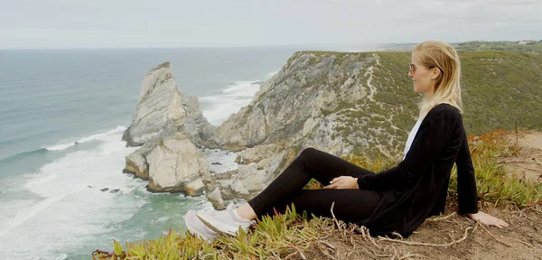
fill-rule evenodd
<path id="1" fill-rule="evenodd" d="M 420 117 L 429 113 L 431 108 L 440 103 L 457 107 L 463 113 L 461 101 L 461 63 L 457 51 L 446 42 L 426 41 L 412 48 L 422 64 L 428 68 L 438 68 L 441 74 L 435 82 L 432 98 L 424 98 L 419 104 Z"/>

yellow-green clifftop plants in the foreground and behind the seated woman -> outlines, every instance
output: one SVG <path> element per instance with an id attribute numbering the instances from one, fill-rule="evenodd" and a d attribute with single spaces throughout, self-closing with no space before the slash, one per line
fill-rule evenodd
<path id="1" fill-rule="evenodd" d="M 507 203 L 516 204 L 519 208 L 531 207 L 529 205 L 535 205 L 542 200 L 542 185 L 506 175 L 504 168 L 498 165 L 502 156 L 519 153 L 518 146 L 505 142 L 504 136 L 507 134 L 509 133 L 498 130 L 479 137 L 469 136 L 469 141 L 472 142 L 471 152 L 479 200 L 480 203 L 491 201 L 495 204 L 506 200 Z M 343 159 L 372 172 L 381 172 L 397 163 L 388 158 L 370 160 L 355 155 L 345 156 Z M 456 200 L 456 172 L 453 171 L 452 175 L 449 200 Z M 321 187 L 320 183 L 311 181 L 305 189 Z M 263 218 L 248 231 L 239 230 L 236 237 L 220 237 L 212 243 L 207 243 L 190 233 L 181 235 L 170 230 L 165 237 L 126 243 L 126 246 L 114 241 L 114 252 L 97 250 L 92 257 L 93 259 L 255 259 L 286 258 L 311 253 L 322 255 L 322 251 L 316 248 L 326 243 L 324 240 L 326 234 L 337 227 L 330 218 L 307 217 L 306 213 L 298 214 L 292 207 L 285 214 Z M 342 228 L 346 227 L 341 221 L 339 223 Z"/>

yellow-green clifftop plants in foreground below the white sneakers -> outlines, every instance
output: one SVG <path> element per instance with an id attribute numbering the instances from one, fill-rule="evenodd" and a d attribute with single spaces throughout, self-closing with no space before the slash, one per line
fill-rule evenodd
<path id="1" fill-rule="evenodd" d="M 274 255 L 285 257 L 305 251 L 319 237 L 323 227 L 331 227 L 329 218 L 309 221 L 306 213 L 297 214 L 294 207 L 285 214 L 266 216 L 248 231 L 239 229 L 236 237 L 220 237 L 207 243 L 190 233 L 181 236 L 170 230 L 165 237 L 126 243 L 126 247 L 114 241 L 114 252 L 93 253 L 93 259 L 254 259 Z M 126 248 L 126 251 L 125 251 Z"/>

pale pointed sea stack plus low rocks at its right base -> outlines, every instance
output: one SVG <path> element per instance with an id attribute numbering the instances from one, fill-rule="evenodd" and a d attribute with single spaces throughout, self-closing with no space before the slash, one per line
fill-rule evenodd
<path id="1" fill-rule="evenodd" d="M 202 115 L 198 98 L 178 90 L 172 65 L 164 62 L 143 79 L 134 118 L 122 137 L 126 146 L 140 148 L 126 156 L 123 172 L 149 181 L 146 187 L 151 192 L 208 194 L 215 209 L 225 209 L 224 199 L 248 200 L 266 186 L 264 169 L 271 161 L 262 159 L 268 154 L 262 154 L 265 149 L 259 147 L 248 149 L 237 160 L 247 165 L 240 164 L 228 172 L 212 172 L 203 155 L 206 149 L 230 153 L 241 148 L 231 149 L 229 143 L 217 142 L 220 139 L 213 138 L 217 130 Z M 269 151 L 276 153 L 277 149 Z"/>

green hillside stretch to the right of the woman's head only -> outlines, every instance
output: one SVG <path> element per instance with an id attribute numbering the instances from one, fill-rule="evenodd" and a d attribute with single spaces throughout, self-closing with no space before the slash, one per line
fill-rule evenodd
<path id="1" fill-rule="evenodd" d="M 464 125 L 480 135 L 515 125 L 542 128 L 542 55 L 462 53 Z"/>

